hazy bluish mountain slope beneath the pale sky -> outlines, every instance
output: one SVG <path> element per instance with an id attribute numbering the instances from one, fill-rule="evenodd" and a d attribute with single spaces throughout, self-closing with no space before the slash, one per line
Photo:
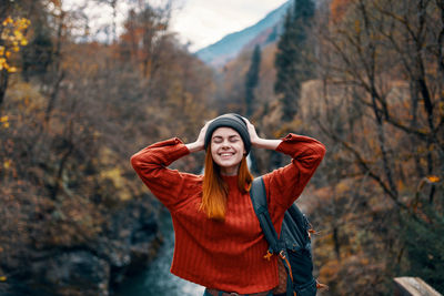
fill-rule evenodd
<path id="1" fill-rule="evenodd" d="M 292 1 L 287 1 L 265 16 L 258 23 L 222 38 L 220 41 L 199 50 L 195 55 L 206 64 L 215 68 L 224 65 L 243 49 L 255 44 L 268 44 L 278 40 L 282 31 L 284 16 Z"/>

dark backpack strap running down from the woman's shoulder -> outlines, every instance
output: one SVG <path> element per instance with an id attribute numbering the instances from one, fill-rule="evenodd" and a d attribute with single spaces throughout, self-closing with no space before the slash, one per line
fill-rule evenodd
<path id="1" fill-rule="evenodd" d="M 274 228 L 274 225 L 271 221 L 269 206 L 266 203 L 265 184 L 262 176 L 255 177 L 253 180 L 250 188 L 250 197 L 253 204 L 254 212 L 256 213 L 259 224 L 261 225 L 265 239 L 269 243 L 269 251 L 264 257 L 266 259 L 270 259 L 273 253 L 280 256 L 289 275 L 286 279 L 286 295 L 295 295 L 292 284 L 293 274 L 290 262 L 287 259 L 285 244 L 278 238 L 276 229 Z"/>

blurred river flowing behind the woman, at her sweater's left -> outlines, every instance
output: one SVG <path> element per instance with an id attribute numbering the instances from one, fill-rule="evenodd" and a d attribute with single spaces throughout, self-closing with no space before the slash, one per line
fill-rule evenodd
<path id="1" fill-rule="evenodd" d="M 183 280 L 170 273 L 174 251 L 174 232 L 168 211 L 161 211 L 159 221 L 160 232 L 164 237 L 158 257 L 150 267 L 138 276 L 125 280 L 114 295 L 118 296 L 199 296 L 203 287 Z"/>

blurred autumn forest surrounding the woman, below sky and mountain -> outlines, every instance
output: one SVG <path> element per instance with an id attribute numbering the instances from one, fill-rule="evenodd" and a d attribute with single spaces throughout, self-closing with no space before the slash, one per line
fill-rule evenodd
<path id="1" fill-rule="evenodd" d="M 0 293 L 107 295 L 145 268 L 160 205 L 130 156 L 224 112 L 326 145 L 300 202 L 325 295 L 389 295 L 404 275 L 444 293 L 443 0 L 295 0 L 279 42 L 221 69 L 169 31 L 168 2 L 129 2 L 100 43 L 59 0 L 1 1 Z"/>

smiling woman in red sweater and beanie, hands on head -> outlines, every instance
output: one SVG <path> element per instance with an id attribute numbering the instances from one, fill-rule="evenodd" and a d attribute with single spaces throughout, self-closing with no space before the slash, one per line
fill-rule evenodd
<path id="1" fill-rule="evenodd" d="M 206 123 L 193 143 L 171 139 L 131 159 L 143 183 L 171 213 L 175 234 L 171 273 L 205 286 L 204 295 L 273 295 L 279 283 L 276 256 L 263 258 L 268 243 L 249 195 L 253 177 L 245 156 L 252 146 L 293 159 L 263 176 L 270 215 L 280 233 L 285 211 L 325 153 L 316 140 L 295 134 L 262 139 L 246 119 L 231 113 Z M 204 149 L 203 176 L 167 169 Z"/>

